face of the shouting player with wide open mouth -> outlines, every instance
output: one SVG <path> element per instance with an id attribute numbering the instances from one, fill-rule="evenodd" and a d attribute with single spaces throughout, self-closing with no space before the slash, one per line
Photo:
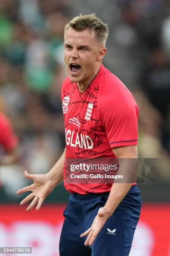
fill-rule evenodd
<path id="1" fill-rule="evenodd" d="M 89 84 L 97 74 L 105 52 L 94 32 L 69 28 L 65 33 L 64 60 L 71 81 Z"/>

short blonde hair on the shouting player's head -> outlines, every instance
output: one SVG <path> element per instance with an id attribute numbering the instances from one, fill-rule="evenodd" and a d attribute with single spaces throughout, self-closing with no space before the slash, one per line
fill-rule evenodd
<path id="1" fill-rule="evenodd" d="M 94 31 L 95 38 L 98 42 L 104 44 L 106 43 L 109 29 L 107 24 L 103 23 L 102 20 L 96 17 L 95 13 L 90 15 L 79 15 L 72 20 L 70 20 L 64 29 L 66 33 L 69 28 L 76 31 L 83 31 L 87 29 L 90 33 Z"/>

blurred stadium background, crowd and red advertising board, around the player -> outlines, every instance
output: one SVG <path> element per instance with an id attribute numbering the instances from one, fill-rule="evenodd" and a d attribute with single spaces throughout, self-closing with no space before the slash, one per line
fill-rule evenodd
<path id="1" fill-rule="evenodd" d="M 105 67 L 140 108 L 139 157 L 170 157 L 169 0 L 0 0 L 0 111 L 10 118 L 20 150 L 19 163 L 0 166 L 0 246 L 59 255 L 68 198 L 63 184 L 39 212 L 20 207 L 16 190 L 30 184 L 25 169 L 46 173 L 63 151 L 63 28 L 75 15 L 92 12 L 109 24 Z M 143 209 L 130 256 L 170 256 L 170 185 L 139 187 Z"/>

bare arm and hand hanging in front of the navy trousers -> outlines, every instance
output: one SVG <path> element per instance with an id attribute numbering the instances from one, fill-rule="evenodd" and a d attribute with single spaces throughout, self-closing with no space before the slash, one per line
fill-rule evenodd
<path id="1" fill-rule="evenodd" d="M 89 228 L 87 231 L 85 231 L 80 235 L 80 237 L 84 237 L 88 235 L 85 241 L 85 246 L 87 245 L 91 246 L 92 243 L 95 241 L 95 238 L 97 237 L 98 233 L 102 229 L 106 220 L 113 214 L 116 207 L 120 204 L 122 199 L 128 193 L 133 183 L 132 177 L 135 177 L 135 173 L 137 172 L 137 161 L 133 161 L 133 160 L 137 160 L 138 158 L 136 145 L 115 147 L 115 148 L 112 148 L 112 150 L 115 156 L 117 157 L 117 159 L 120 159 L 120 162 L 121 162 L 121 164 L 119 163 L 120 166 L 117 174 L 119 172 L 125 173 L 126 177 L 125 177 L 125 180 L 123 181 L 124 183 L 113 182 L 112 188 L 110 190 L 110 194 L 105 206 L 101 207 L 98 210 L 98 213 L 92 223 L 91 228 Z"/>

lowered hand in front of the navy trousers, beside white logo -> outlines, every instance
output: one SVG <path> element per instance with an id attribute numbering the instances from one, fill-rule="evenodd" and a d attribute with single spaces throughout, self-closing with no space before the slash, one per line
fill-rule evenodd
<path id="1" fill-rule="evenodd" d="M 98 210 L 98 213 L 92 223 L 91 228 L 89 228 L 87 231 L 82 233 L 80 237 L 87 236 L 87 239 L 85 241 L 85 246 L 89 245 L 91 246 L 92 243 L 95 241 L 95 238 L 97 237 L 98 233 L 104 226 L 106 220 L 110 217 L 110 214 L 106 211 L 104 207 L 101 207 Z"/>

